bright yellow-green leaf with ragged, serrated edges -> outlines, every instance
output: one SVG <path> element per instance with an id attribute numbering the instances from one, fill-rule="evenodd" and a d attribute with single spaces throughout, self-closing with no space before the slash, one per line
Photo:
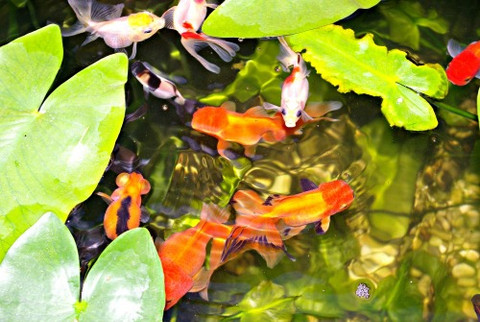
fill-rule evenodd
<path id="1" fill-rule="evenodd" d="M 419 93 L 445 97 L 448 80 L 440 65 L 416 66 L 405 52 L 375 45 L 371 34 L 356 39 L 352 30 L 336 25 L 287 39 L 295 51 L 307 49 L 304 59 L 340 92 L 382 97 L 382 112 L 390 125 L 412 131 L 437 126 L 432 107 Z"/>

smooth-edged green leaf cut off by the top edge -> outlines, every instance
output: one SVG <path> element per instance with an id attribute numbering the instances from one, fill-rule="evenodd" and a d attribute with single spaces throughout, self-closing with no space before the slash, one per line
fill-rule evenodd
<path id="1" fill-rule="evenodd" d="M 380 0 L 226 0 L 205 20 L 215 37 L 260 38 L 295 34 L 343 19 Z"/>

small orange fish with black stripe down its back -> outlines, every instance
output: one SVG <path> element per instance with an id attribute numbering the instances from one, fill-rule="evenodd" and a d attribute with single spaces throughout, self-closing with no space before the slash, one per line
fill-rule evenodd
<path id="1" fill-rule="evenodd" d="M 121 233 L 140 226 L 142 211 L 141 195 L 150 191 L 150 183 L 140 173 L 120 173 L 115 180 L 118 188 L 108 196 L 97 192 L 109 206 L 103 218 L 103 226 L 108 238 L 115 239 Z"/>

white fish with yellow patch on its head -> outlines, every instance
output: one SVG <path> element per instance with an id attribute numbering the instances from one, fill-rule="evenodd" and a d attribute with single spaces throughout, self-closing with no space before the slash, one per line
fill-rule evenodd
<path id="1" fill-rule="evenodd" d="M 125 48 L 133 44 L 133 59 L 137 53 L 137 43 L 153 36 L 165 26 L 165 20 L 153 13 L 144 11 L 121 17 L 123 4 L 108 5 L 95 0 L 68 0 L 78 21 L 69 29 L 62 30 L 64 37 L 83 32 L 90 35 L 82 46 L 103 38 L 107 46 L 113 49 Z"/>

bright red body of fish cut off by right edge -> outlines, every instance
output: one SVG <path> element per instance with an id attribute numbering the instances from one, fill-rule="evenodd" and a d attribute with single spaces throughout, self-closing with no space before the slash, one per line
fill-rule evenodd
<path id="1" fill-rule="evenodd" d="M 471 51 L 463 51 L 452 59 L 447 67 L 447 78 L 457 86 L 468 84 L 480 69 L 480 57 Z"/>

